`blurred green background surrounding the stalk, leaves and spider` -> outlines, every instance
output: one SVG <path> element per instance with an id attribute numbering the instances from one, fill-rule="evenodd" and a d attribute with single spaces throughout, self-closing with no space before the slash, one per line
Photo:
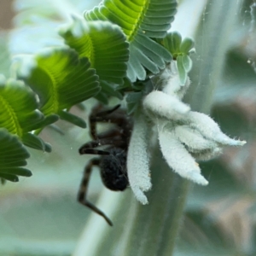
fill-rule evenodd
<path id="1" fill-rule="evenodd" d="M 10 76 L 14 55 L 63 44 L 57 27 L 65 24 L 70 14 L 82 15 L 84 9 L 97 3 L 1 0 L 0 73 Z M 247 140 L 247 145 L 227 148 L 217 160 L 201 164 L 210 184 L 203 189 L 192 185 L 175 256 L 256 255 L 256 2 L 239 4 L 234 14 L 236 30 L 224 38 L 228 50 L 213 96 L 212 117 L 222 131 Z M 211 56 L 201 59 L 197 50 L 206 48 L 211 37 L 206 30 L 209 12 L 207 8 L 195 11 L 199 20 L 195 48 L 199 54 L 194 55 L 192 83 L 197 79 L 195 74 L 200 74 L 196 63 L 211 61 Z M 85 110 L 72 111 L 87 119 L 95 103 L 87 101 Z M 86 129 L 62 121 L 56 125 L 62 133 L 45 128 L 41 134 L 52 145 L 50 154 L 28 149 L 32 155 L 28 168 L 33 176 L 0 186 L 0 255 L 71 255 L 84 230 L 90 211 L 79 205 L 76 196 L 89 157 L 80 156 L 78 148 L 90 138 Z M 100 177 L 94 172 L 91 201 L 97 200 L 101 189 Z"/>

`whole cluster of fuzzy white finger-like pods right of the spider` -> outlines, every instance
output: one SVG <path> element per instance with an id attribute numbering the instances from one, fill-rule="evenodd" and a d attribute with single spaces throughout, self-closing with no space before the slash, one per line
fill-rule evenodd
<path id="1" fill-rule="evenodd" d="M 196 160 L 210 160 L 226 145 L 242 146 L 246 142 L 232 139 L 220 131 L 207 114 L 193 112 L 181 100 L 189 88 L 189 79 L 180 84 L 175 61 L 154 79 L 161 90 L 151 91 L 143 99 L 135 116 L 135 125 L 127 157 L 131 189 L 138 201 L 147 204 L 143 192 L 151 188 L 148 142 L 152 122 L 158 133 L 161 152 L 167 164 L 181 177 L 207 185 Z"/>

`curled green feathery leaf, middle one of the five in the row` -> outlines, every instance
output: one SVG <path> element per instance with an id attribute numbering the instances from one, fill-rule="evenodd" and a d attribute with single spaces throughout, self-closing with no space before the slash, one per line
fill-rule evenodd
<path id="1" fill-rule="evenodd" d="M 63 110 L 95 96 L 101 89 L 89 60 L 79 59 L 73 49 L 44 49 L 35 55 L 33 61 L 30 67 L 21 64 L 18 77 L 38 94 L 40 110 L 45 116 L 57 114 L 66 117 L 61 114 Z M 85 124 L 80 126 L 85 127 Z"/>

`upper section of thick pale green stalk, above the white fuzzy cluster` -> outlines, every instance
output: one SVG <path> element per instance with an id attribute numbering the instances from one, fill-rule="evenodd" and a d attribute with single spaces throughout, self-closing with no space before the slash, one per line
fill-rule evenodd
<path id="1" fill-rule="evenodd" d="M 241 4 L 241 0 L 208 0 L 195 40 L 196 55 L 190 76 L 193 83 L 185 97 L 195 111 L 210 113 Z"/>

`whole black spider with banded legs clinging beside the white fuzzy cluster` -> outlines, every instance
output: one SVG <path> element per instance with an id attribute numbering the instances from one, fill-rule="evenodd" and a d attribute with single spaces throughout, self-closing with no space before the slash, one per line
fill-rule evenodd
<path id="1" fill-rule="evenodd" d="M 90 114 L 90 135 L 93 140 L 85 143 L 79 148 L 80 154 L 100 154 L 100 157 L 93 158 L 84 167 L 84 176 L 80 184 L 78 201 L 85 207 L 100 214 L 108 224 L 113 225 L 104 212 L 99 210 L 86 199 L 88 183 L 92 166 L 99 166 L 102 183 L 111 190 L 123 191 L 129 184 L 126 170 L 126 154 L 131 137 L 132 122 L 127 117 L 120 105 L 112 109 L 103 109 L 102 106 L 93 108 Z M 112 123 L 114 127 L 109 131 L 96 133 L 96 123 Z M 97 149 L 100 146 L 107 146 L 104 150 Z"/>

